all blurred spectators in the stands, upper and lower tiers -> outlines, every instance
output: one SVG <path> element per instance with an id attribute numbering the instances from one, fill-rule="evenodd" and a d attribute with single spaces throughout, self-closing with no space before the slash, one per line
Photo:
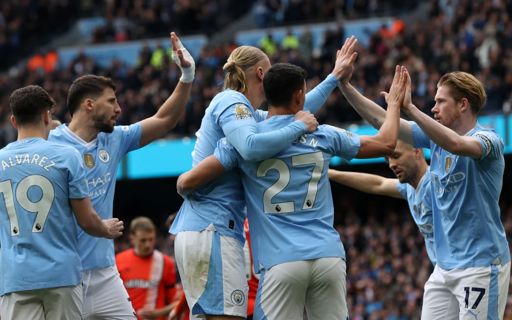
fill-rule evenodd
<path id="1" fill-rule="evenodd" d="M 10 124 L 8 98 L 28 84 L 39 84 L 57 101 L 55 115 L 69 122 L 66 96 L 72 81 L 84 74 L 112 77 L 122 109 L 118 124 L 152 116 L 174 90 L 180 77 L 170 61 L 169 48 L 144 47 L 137 66 L 113 60 L 100 68 L 93 58 L 77 56 L 63 69 L 56 61 L 28 60 L 26 67 L 9 68 L 20 56 L 65 32 L 78 17 L 103 16 L 107 24 L 93 32 L 93 42 L 115 42 L 166 36 L 206 34 L 251 12 L 258 27 L 337 21 L 327 30 L 321 50 L 314 50 L 311 33 L 287 36 L 275 43 L 271 37 L 260 46 L 272 62 L 291 62 L 308 72 L 310 90 L 332 70 L 336 50 L 346 37 L 343 19 L 374 17 L 393 12 L 391 28 L 371 34 L 368 46 L 356 48 L 358 58 L 351 83 L 362 94 L 385 107 L 379 93 L 391 85 L 394 66 L 404 65 L 413 80 L 414 103 L 426 114 L 434 105 L 436 84 L 442 74 L 467 71 L 485 84 L 487 103 L 482 113 L 509 113 L 512 105 L 512 1 L 429 0 L 427 23 L 406 24 L 399 16 L 416 2 L 397 0 L 23 0 L 3 1 L 0 10 L 0 147 L 16 139 Z M 196 61 L 196 76 L 186 112 L 170 136 L 192 136 L 204 110 L 222 85 L 222 66 L 233 41 L 207 45 Z M 48 56 L 48 55 L 47 55 Z M 58 57 L 54 57 L 58 59 Z M 52 62 L 53 61 L 53 62 Z M 32 62 L 32 63 L 31 63 Z M 42 63 L 42 64 L 41 64 Z M 361 118 L 337 90 L 316 114 L 320 123 L 351 123 Z M 507 180 L 505 180 L 507 181 Z M 509 188 L 504 186 L 503 193 Z M 410 218 L 406 202 L 333 188 L 336 229 L 347 251 L 347 287 L 351 319 L 419 319 L 424 282 L 433 266 L 424 241 Z M 501 199 L 502 219 L 512 243 L 512 203 Z M 385 209 L 382 209 L 385 208 Z M 126 213 L 129 223 L 137 212 Z M 117 215 L 119 217 L 119 215 Z M 120 218 L 123 218 L 122 216 Z M 128 220 L 126 220 L 128 219 Z M 165 217 L 157 247 L 173 255 Z M 116 251 L 129 247 L 127 238 L 116 241 Z M 512 301 L 505 319 L 512 319 Z"/>

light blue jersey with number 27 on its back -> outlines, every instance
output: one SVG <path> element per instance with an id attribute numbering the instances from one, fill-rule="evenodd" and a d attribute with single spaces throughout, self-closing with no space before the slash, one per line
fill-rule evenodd
<path id="1" fill-rule="evenodd" d="M 258 123 L 269 132 L 293 121 L 273 116 Z M 333 156 L 355 157 L 356 134 L 329 125 L 304 134 L 270 159 L 248 162 L 226 140 L 215 156 L 226 170 L 239 167 L 245 188 L 254 269 L 276 264 L 339 257 L 345 249 L 333 227 L 334 208 L 327 170 Z"/>

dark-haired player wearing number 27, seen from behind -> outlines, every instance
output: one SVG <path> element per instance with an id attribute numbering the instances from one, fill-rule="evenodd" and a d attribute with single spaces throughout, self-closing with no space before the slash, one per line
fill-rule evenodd
<path id="1" fill-rule="evenodd" d="M 305 78 L 304 69 L 288 63 L 270 68 L 264 79 L 270 107 L 267 120 L 258 123 L 259 132 L 293 121 L 304 106 Z M 350 160 L 393 153 L 404 78 L 403 68 L 397 67 L 387 96 L 388 117 L 376 136 L 321 125 L 262 161 L 243 159 L 223 139 L 214 156 L 178 179 L 178 190 L 186 194 L 184 190 L 240 168 L 253 263 L 255 271 L 261 272 L 254 319 L 298 320 L 304 307 L 309 319 L 347 319 L 345 250 L 333 227 L 329 161 L 333 156 Z"/>

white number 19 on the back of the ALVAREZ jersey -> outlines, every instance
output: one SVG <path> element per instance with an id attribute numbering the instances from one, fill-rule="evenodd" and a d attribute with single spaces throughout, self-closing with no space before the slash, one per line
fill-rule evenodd
<path id="1" fill-rule="evenodd" d="M 42 196 L 39 201 L 33 202 L 28 197 L 29 188 L 37 186 L 42 191 Z M 0 193 L 4 195 L 5 206 L 7 208 L 7 215 L 11 224 L 11 237 L 19 236 L 18 216 L 16 207 L 14 206 L 14 192 L 12 189 L 11 180 L 0 182 Z M 39 175 L 32 175 L 23 178 L 16 187 L 16 201 L 18 204 L 29 212 L 35 212 L 36 217 L 32 225 L 32 232 L 42 232 L 45 227 L 46 218 L 50 213 L 50 208 L 55 198 L 55 190 L 48 178 Z"/>

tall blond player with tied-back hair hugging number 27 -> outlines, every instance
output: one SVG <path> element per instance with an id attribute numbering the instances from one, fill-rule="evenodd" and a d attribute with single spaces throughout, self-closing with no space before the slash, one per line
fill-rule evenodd
<path id="1" fill-rule="evenodd" d="M 326 101 L 344 71 L 340 61 L 345 59 L 340 57 L 355 59 L 356 42 L 347 39 L 338 50 L 332 74 L 307 94 L 306 109 L 314 113 Z M 261 160 L 316 129 L 316 119 L 301 111 L 288 125 L 258 133 L 256 123 L 266 118 L 266 112 L 254 110 L 265 100 L 263 78 L 269 68 L 270 60 L 258 48 L 242 46 L 231 53 L 223 68 L 224 89 L 206 109 L 196 134 L 193 166 L 212 155 L 223 137 L 244 159 Z M 169 230 L 177 234 L 176 262 L 192 314 L 246 317 L 244 207 L 240 175 L 232 170 L 185 199 Z"/>

